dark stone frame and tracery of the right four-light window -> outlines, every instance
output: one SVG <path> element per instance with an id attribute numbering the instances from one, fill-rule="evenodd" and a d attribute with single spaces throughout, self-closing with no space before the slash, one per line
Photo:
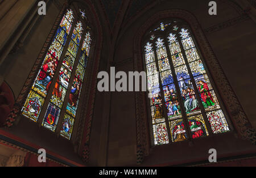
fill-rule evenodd
<path id="1" fill-rule="evenodd" d="M 174 23 L 174 21 L 176 21 L 176 23 Z M 163 31 L 161 31 L 160 29 L 154 31 L 154 29 L 160 27 L 160 23 L 164 23 L 164 24 L 168 24 L 170 23 L 171 24 L 169 26 L 167 26 Z M 177 31 L 174 31 L 174 26 L 177 26 L 179 27 L 179 29 L 177 29 Z M 172 64 L 172 55 L 171 55 L 171 52 L 170 52 L 170 48 L 169 48 L 169 43 L 168 43 L 168 40 L 167 40 L 167 37 L 170 35 L 170 33 L 174 33 L 177 37 L 177 42 L 179 43 L 180 45 L 180 49 L 181 49 L 181 54 L 183 55 L 183 58 L 184 58 L 184 61 L 185 61 L 185 66 L 187 66 L 188 68 L 188 71 L 189 71 L 189 77 L 191 78 L 191 80 L 195 80 L 195 78 L 193 77 L 193 75 L 190 74 L 190 71 L 191 71 L 191 67 L 189 66 L 189 62 L 187 60 L 187 56 L 185 54 L 185 50 L 184 50 L 184 46 L 182 45 L 181 43 L 181 38 L 180 38 L 180 29 L 181 28 L 185 28 L 185 29 L 188 29 L 188 32 L 189 34 L 191 35 L 192 37 L 192 40 L 193 40 L 193 43 L 195 43 L 195 48 L 197 50 L 197 53 L 199 54 L 199 57 L 204 65 L 204 69 L 206 71 L 206 74 L 208 75 L 208 78 L 209 78 L 209 82 L 212 86 L 212 90 L 209 90 L 209 91 L 214 91 L 214 93 L 216 94 L 216 98 L 218 99 L 218 103 L 220 105 L 220 109 L 215 109 L 213 111 L 218 111 L 218 110 L 221 110 L 223 113 L 224 113 L 224 116 L 225 116 L 225 120 L 228 124 L 228 127 L 229 127 L 229 131 L 227 132 L 222 132 L 222 133 L 217 133 L 217 134 L 214 134 L 212 132 L 212 128 L 210 127 L 210 123 L 209 123 L 209 120 L 208 120 L 208 117 L 207 117 L 207 113 L 209 112 L 212 112 L 212 111 L 205 111 L 205 108 L 201 107 L 201 98 L 198 99 L 198 96 L 200 95 L 200 92 L 195 89 L 195 93 L 196 93 L 196 98 L 197 100 L 199 100 L 199 105 L 200 105 L 200 113 L 192 113 L 191 115 L 187 116 L 186 113 L 183 113 L 181 114 L 181 118 L 176 118 L 174 120 L 177 120 L 177 119 L 181 119 L 183 120 L 183 124 L 185 125 L 185 131 L 186 131 L 186 134 L 187 134 L 187 139 L 185 139 L 184 141 L 179 141 L 179 142 L 190 142 L 194 139 L 206 139 L 206 138 L 209 138 L 209 137 L 214 137 L 215 135 L 224 135 L 224 134 L 227 134 L 227 133 L 230 133 L 230 132 L 233 132 L 234 129 L 233 129 L 233 125 L 232 125 L 232 122 L 230 121 L 230 117 L 228 115 L 228 112 L 226 111 L 226 107 L 224 105 L 224 102 L 219 94 L 219 91 L 218 91 L 218 88 L 216 87 L 216 84 L 212 78 L 212 74 L 210 73 L 209 69 L 208 69 L 208 65 L 207 63 L 205 62 L 205 58 L 203 57 L 203 55 L 201 54 L 201 49 L 199 48 L 199 45 L 197 43 L 197 40 L 195 39 L 195 35 L 193 34 L 193 31 L 191 29 L 191 26 L 185 22 L 183 19 L 179 19 L 179 18 L 167 18 L 167 19 L 164 19 L 164 20 L 160 20 L 158 21 L 157 23 L 154 24 L 154 26 L 151 26 L 149 29 L 147 29 L 147 32 L 143 35 L 142 37 L 142 45 L 141 45 L 141 52 L 142 52 L 142 59 L 143 59 L 143 70 L 144 71 L 147 71 L 147 67 L 146 67 L 146 57 L 145 57 L 145 46 L 148 42 L 150 42 L 153 46 L 153 49 L 152 51 L 154 52 L 154 57 L 155 57 L 155 60 L 154 62 L 156 62 L 156 70 L 158 71 L 159 73 L 159 90 L 160 90 L 160 94 L 163 95 L 164 94 L 164 91 L 163 91 L 163 84 L 160 80 L 160 71 L 159 71 L 159 64 L 158 64 L 158 57 L 157 57 L 157 54 L 156 54 L 156 50 L 158 48 L 156 48 L 156 40 L 160 37 L 160 39 L 163 39 L 164 41 L 164 47 L 166 48 L 166 52 L 167 52 L 167 58 L 168 58 L 168 62 L 170 64 L 170 69 L 167 69 L 167 70 L 171 70 L 171 73 L 174 74 L 175 73 L 175 70 L 174 70 L 174 65 Z M 154 35 L 154 39 L 151 40 L 151 35 Z M 151 52 L 152 52 L 151 51 Z M 163 71 L 167 71 L 167 70 L 163 70 Z M 162 71 L 162 72 L 163 72 Z M 148 82 L 148 80 L 147 80 Z M 176 93 L 177 92 L 180 92 L 180 87 L 179 87 L 179 81 L 176 81 L 176 79 L 174 79 L 174 84 L 175 84 L 175 88 L 176 88 Z M 168 84 L 167 84 L 168 85 Z M 166 85 L 164 85 L 166 86 Z M 182 108 L 184 108 L 184 103 L 183 102 L 180 102 L 180 99 L 179 99 L 179 96 L 177 96 L 177 100 L 179 100 L 179 103 L 180 103 L 180 106 L 183 105 L 181 107 L 181 113 L 182 113 Z M 155 104 L 154 104 L 155 105 Z M 164 115 L 164 118 L 165 118 L 165 121 L 164 122 L 158 122 L 158 123 L 155 123 L 155 124 L 152 124 L 152 116 L 151 116 L 151 104 L 150 104 L 150 100 L 147 98 L 146 96 L 146 108 L 147 108 L 147 120 L 148 120 L 148 126 L 149 126 L 149 130 L 150 130 L 150 145 L 151 147 L 159 147 L 159 146 L 164 146 L 164 145 L 172 145 L 172 144 L 177 144 L 179 142 L 173 142 L 172 141 L 172 136 L 171 136 L 171 129 L 170 129 L 170 119 L 168 118 L 167 116 L 167 109 L 166 109 L 166 101 L 164 100 L 164 96 L 162 96 L 162 108 L 163 108 L 163 115 Z M 189 129 L 189 124 L 188 124 L 188 117 L 191 117 L 191 116 L 197 116 L 197 115 L 202 115 L 203 116 L 203 119 L 204 119 L 204 122 L 205 122 L 205 127 L 207 128 L 208 130 L 208 133 L 209 135 L 205 135 L 204 137 L 199 137 L 199 138 L 192 138 L 191 137 L 191 130 Z M 168 143 L 164 143 L 164 144 L 160 144 L 160 145 L 155 145 L 155 140 L 154 140 L 154 129 L 153 129 L 153 125 L 157 125 L 157 124 L 160 124 L 160 123 L 165 123 L 166 124 L 166 129 L 167 129 L 167 133 L 168 133 Z"/>

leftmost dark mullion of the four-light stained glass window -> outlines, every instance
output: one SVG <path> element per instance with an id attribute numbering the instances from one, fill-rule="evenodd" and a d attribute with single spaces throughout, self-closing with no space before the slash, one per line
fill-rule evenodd
<path id="1" fill-rule="evenodd" d="M 158 71 L 158 81 L 159 81 L 159 87 L 160 87 L 160 94 L 161 94 L 161 98 L 162 98 L 162 108 L 163 108 L 163 112 L 164 112 L 164 119 L 166 122 L 166 128 L 167 128 L 167 133 L 168 133 L 168 139 L 169 139 L 169 143 L 172 142 L 172 137 L 171 137 L 171 129 L 170 129 L 170 125 L 168 124 L 168 115 L 167 115 L 167 109 L 166 109 L 166 102 L 164 100 L 164 92 L 163 92 L 163 84 L 162 84 L 162 80 L 161 80 L 161 75 L 160 75 L 160 70 L 159 70 L 159 63 L 158 63 L 158 56 L 156 54 L 156 47 L 155 47 L 155 41 L 153 43 L 153 50 L 154 50 L 154 55 L 155 55 L 155 61 L 156 61 L 156 69 Z"/>

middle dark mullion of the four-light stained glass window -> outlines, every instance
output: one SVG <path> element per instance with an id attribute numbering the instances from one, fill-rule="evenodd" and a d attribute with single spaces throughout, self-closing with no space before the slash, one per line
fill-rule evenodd
<path id="1" fill-rule="evenodd" d="M 188 119 L 187 119 L 187 113 L 185 112 L 185 108 L 184 108 L 184 104 L 183 104 L 183 100 L 182 100 L 182 97 L 181 97 L 181 94 L 180 94 L 180 87 L 179 87 L 179 82 L 177 80 L 177 76 L 176 76 L 176 73 L 175 73 L 175 69 L 174 69 L 174 63 L 172 62 L 172 56 L 171 56 L 171 51 L 170 51 L 170 48 L 169 48 L 169 45 L 168 45 L 168 41 L 167 41 L 167 38 L 164 37 L 164 44 L 165 46 L 167 46 L 167 57 L 168 57 L 168 61 L 170 63 L 170 66 L 171 66 L 171 73 L 172 73 L 172 77 L 174 78 L 174 84 L 175 84 L 175 88 L 176 88 L 176 94 L 177 94 L 177 99 L 179 101 L 180 104 L 180 107 L 181 107 L 181 115 L 182 115 L 182 118 L 183 118 L 183 122 L 185 123 L 184 126 L 185 126 L 185 130 L 186 130 L 186 133 L 188 135 L 188 139 L 190 140 L 192 138 L 192 135 L 191 135 L 191 132 L 189 130 L 189 124 L 188 124 Z"/>

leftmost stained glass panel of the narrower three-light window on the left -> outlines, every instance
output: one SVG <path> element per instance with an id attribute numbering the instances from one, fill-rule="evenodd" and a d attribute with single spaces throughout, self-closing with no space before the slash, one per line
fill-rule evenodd
<path id="1" fill-rule="evenodd" d="M 23 115 L 35 122 L 38 121 L 42 105 L 48 94 L 49 88 L 51 87 L 52 79 L 55 76 L 57 66 L 59 65 L 60 56 L 71 30 L 73 19 L 73 11 L 67 10 L 67 13 L 63 16 L 60 26 L 53 37 L 51 46 L 49 46 L 42 67 L 32 85 L 32 90 L 22 108 Z M 63 92 L 65 92 L 65 90 Z M 36 103 L 38 101 L 40 101 L 40 107 L 39 103 Z"/>

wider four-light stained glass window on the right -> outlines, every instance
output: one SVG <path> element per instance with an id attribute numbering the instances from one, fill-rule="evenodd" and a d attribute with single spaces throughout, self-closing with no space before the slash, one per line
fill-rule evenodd
<path id="1" fill-rule="evenodd" d="M 230 130 L 188 26 L 160 23 L 146 35 L 144 59 L 155 145 Z"/>

